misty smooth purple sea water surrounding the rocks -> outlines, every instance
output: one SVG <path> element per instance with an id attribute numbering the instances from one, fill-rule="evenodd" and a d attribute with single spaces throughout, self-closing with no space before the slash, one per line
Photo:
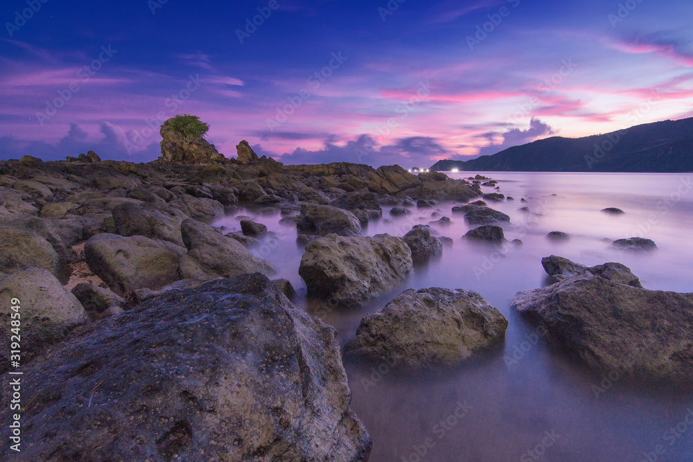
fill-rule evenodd
<path id="1" fill-rule="evenodd" d="M 604 377 L 552 352 L 510 308 L 516 292 L 544 285 L 541 258 L 551 254 L 584 265 L 617 261 L 647 289 L 693 292 L 693 174 L 482 175 L 514 197 L 489 206 L 510 215 L 514 226 L 507 227 L 506 238 L 523 245 L 499 250 L 464 242 L 470 226 L 463 215 L 451 213 L 457 204 L 439 204 L 434 210 L 453 224 L 434 227 L 453 238 L 453 247 L 360 310 L 340 312 L 306 301 L 298 276 L 303 249 L 295 245 L 295 226 L 280 224 L 279 214 L 240 209 L 215 224 L 240 229 L 236 216 L 249 215 L 277 233 L 252 252 L 277 265 L 278 277 L 301 295 L 297 305 L 337 328 L 342 346 L 361 317 L 410 287 L 475 290 L 509 319 L 502 350 L 446 373 L 401 375 L 385 365 L 378 371 L 377 364 L 347 362 L 352 408 L 373 438 L 371 461 L 693 461 L 692 393 L 618 379 L 605 393 L 595 393 L 593 386 Z M 518 210 L 523 206 L 529 211 Z M 606 207 L 626 213 L 600 212 Z M 438 219 L 432 209 L 414 207 L 396 219 L 389 207 L 383 210 L 383 219 L 365 228 L 366 236 L 403 236 L 413 224 Z M 550 231 L 564 231 L 570 240 L 552 242 L 545 237 Z M 610 248 L 612 240 L 633 236 L 650 238 L 659 249 L 632 254 Z"/>

